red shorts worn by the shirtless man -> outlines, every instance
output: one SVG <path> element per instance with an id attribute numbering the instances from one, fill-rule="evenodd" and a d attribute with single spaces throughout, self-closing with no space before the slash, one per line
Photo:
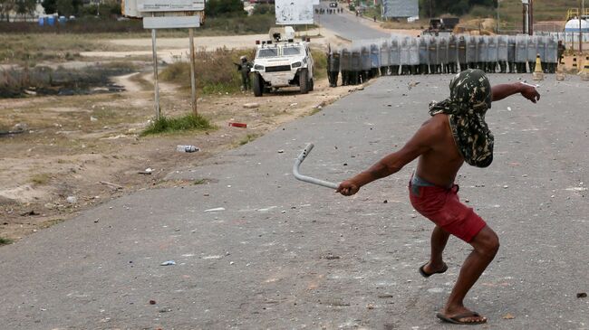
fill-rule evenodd
<path id="1" fill-rule="evenodd" d="M 421 215 L 460 240 L 470 242 L 487 223 L 472 208 L 460 203 L 459 186 L 415 186 L 409 184 L 411 205 Z M 416 194 L 417 193 L 417 194 Z"/>

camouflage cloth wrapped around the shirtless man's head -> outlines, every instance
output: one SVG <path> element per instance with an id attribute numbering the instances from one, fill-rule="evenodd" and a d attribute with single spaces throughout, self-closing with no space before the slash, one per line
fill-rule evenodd
<path id="1" fill-rule="evenodd" d="M 494 137 L 485 122 L 491 108 L 491 84 L 480 70 L 466 70 L 450 81 L 450 97 L 430 104 L 430 115 L 448 115 L 454 141 L 469 164 L 487 167 L 493 162 Z"/>

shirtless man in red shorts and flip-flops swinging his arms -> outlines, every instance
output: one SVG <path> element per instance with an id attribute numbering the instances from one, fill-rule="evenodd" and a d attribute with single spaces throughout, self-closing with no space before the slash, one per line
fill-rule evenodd
<path id="1" fill-rule="evenodd" d="M 491 88 L 480 70 L 462 71 L 450 82 L 450 97 L 430 105 L 430 115 L 401 150 L 385 156 L 368 170 L 343 181 L 338 193 L 350 196 L 360 187 L 401 170 L 419 157 L 409 190 L 413 207 L 436 224 L 431 233 L 430 260 L 420 268 L 423 277 L 443 273 L 442 260 L 449 235 L 468 242 L 474 250 L 460 269 L 448 302 L 438 317 L 455 324 L 482 324 L 487 317 L 468 310 L 463 300 L 468 290 L 495 258 L 499 240 L 495 231 L 471 209 L 459 202 L 456 174 L 466 161 L 487 167 L 493 161 L 494 137 L 485 123 L 491 102 L 520 93 L 536 103 L 540 95 L 525 83 L 516 82 Z"/>

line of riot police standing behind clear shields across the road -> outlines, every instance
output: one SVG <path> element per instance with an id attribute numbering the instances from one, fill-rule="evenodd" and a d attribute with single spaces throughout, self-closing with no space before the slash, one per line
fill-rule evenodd
<path id="1" fill-rule="evenodd" d="M 392 35 L 389 39 L 355 41 L 327 55 L 331 87 L 357 85 L 380 75 L 533 72 L 536 54 L 542 71 L 555 73 L 558 42 L 550 35 Z"/>

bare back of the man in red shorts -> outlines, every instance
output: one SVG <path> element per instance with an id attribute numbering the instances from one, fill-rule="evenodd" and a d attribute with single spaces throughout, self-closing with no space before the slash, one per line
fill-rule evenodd
<path id="1" fill-rule="evenodd" d="M 432 139 L 430 150 L 420 156 L 416 174 L 432 184 L 453 184 L 464 158 L 452 136 L 448 115 L 438 114 L 426 121 L 422 128 L 428 129 L 436 138 Z"/>

